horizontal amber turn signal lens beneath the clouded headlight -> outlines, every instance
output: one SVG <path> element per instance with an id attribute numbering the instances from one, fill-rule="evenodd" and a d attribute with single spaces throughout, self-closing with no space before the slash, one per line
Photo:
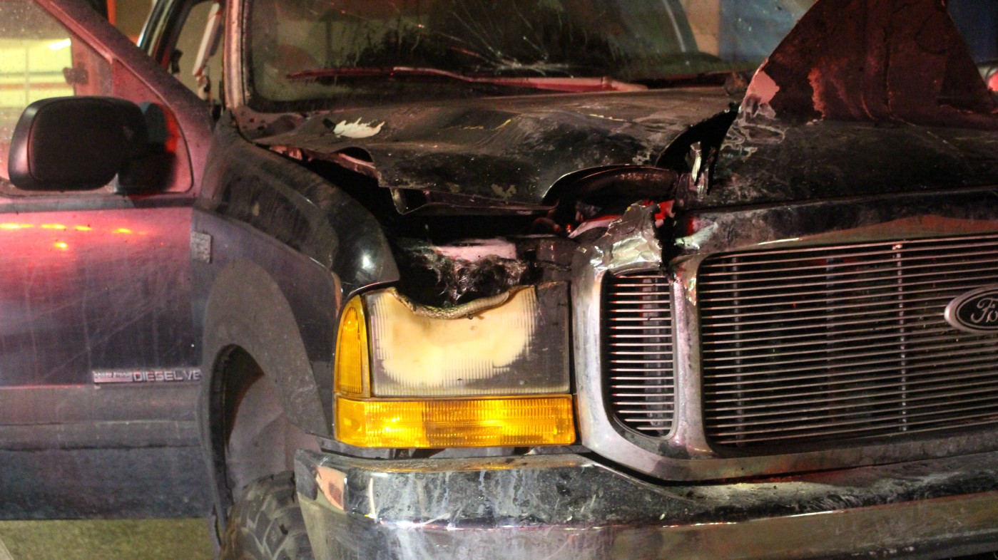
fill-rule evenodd
<path id="1" fill-rule="evenodd" d="M 358 447 L 506 447 L 575 442 L 572 397 L 336 399 L 336 438 Z"/>

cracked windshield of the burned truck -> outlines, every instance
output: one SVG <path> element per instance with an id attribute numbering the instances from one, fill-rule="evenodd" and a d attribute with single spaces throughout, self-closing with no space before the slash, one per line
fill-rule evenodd
<path id="1" fill-rule="evenodd" d="M 812 3 L 255 0 L 250 105 L 626 90 L 751 70 Z"/>

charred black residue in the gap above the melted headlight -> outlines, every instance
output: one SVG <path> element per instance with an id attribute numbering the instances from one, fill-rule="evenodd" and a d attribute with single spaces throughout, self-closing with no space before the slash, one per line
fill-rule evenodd
<path id="1" fill-rule="evenodd" d="M 425 241 L 399 240 L 396 258 L 403 281 L 399 292 L 424 305 L 454 306 L 522 285 L 530 264 L 483 255 L 465 259 L 444 254 Z"/>

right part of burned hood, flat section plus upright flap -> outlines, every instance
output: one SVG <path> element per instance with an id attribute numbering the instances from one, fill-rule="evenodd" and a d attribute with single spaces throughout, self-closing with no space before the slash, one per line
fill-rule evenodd
<path id="1" fill-rule="evenodd" d="M 995 104 L 942 0 L 818 0 L 687 206 L 998 184 Z"/>

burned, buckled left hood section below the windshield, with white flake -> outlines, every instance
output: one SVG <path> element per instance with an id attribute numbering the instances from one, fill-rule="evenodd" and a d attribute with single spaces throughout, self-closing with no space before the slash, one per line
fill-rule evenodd
<path id="1" fill-rule="evenodd" d="M 385 187 L 529 207 L 545 204 L 570 173 L 654 165 L 673 140 L 733 101 L 721 88 L 698 88 L 371 107 L 317 115 L 255 141 L 353 166 Z"/>

